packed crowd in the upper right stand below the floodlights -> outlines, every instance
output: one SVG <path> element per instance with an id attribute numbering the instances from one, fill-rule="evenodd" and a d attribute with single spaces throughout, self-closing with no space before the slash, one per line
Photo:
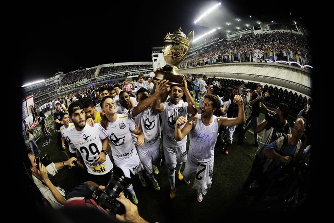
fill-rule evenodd
<path id="1" fill-rule="evenodd" d="M 211 64 L 231 63 L 239 60 L 241 62 L 253 62 L 252 57 L 256 50 L 263 54 L 263 62 L 282 60 L 308 65 L 312 63 L 310 40 L 305 35 L 292 32 L 275 31 L 246 35 L 220 43 L 212 44 L 206 47 L 206 50 L 199 50 L 196 54 L 188 55 L 182 61 L 180 67 L 196 66 L 199 65 L 198 61 L 209 60 Z M 273 57 L 274 53 L 276 58 Z"/>

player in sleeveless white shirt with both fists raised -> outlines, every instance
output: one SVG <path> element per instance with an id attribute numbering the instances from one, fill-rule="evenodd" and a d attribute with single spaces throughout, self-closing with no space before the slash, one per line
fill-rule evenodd
<path id="1" fill-rule="evenodd" d="M 236 118 L 223 116 L 218 118 L 213 115 L 220 108 L 220 101 L 218 96 L 208 94 L 204 96 L 200 114 L 193 115 L 188 120 L 180 116 L 176 121 L 175 140 L 177 142 L 187 138 L 190 132 L 188 158 L 182 175 L 185 183 L 189 184 L 190 178 L 196 174 L 193 189 L 197 190 L 198 202 L 203 200 L 203 195 L 212 184 L 214 145 L 219 127 L 234 126 L 244 122 L 243 98 L 235 96 L 233 102 L 239 106 Z"/>

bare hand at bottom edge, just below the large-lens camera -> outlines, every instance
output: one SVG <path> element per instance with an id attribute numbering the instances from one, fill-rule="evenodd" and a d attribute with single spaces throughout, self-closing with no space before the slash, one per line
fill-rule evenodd
<path id="1" fill-rule="evenodd" d="M 125 198 L 123 192 L 120 193 L 120 197 L 116 197 L 125 207 L 125 213 L 122 215 L 116 214 L 116 219 L 122 222 L 132 222 L 132 223 L 148 223 L 138 213 L 138 207 L 133 204 L 129 199 Z"/>

